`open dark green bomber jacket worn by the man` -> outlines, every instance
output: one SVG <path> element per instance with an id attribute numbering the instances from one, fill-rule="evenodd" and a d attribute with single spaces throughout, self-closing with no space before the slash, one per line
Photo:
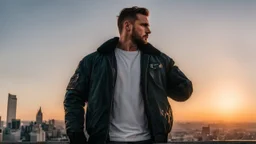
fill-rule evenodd
<path id="1" fill-rule="evenodd" d="M 105 144 L 109 139 L 110 113 L 113 104 L 117 64 L 114 49 L 119 41 L 114 37 L 79 63 L 66 89 L 64 98 L 65 125 L 71 144 Z M 174 65 L 174 61 L 150 43 L 141 50 L 141 91 L 152 140 L 167 142 L 173 115 L 168 97 L 187 100 L 192 82 Z M 84 135 L 84 106 L 87 103 Z"/>

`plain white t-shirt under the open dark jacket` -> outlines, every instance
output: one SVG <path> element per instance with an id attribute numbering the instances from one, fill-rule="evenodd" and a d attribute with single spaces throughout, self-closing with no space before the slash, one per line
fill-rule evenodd
<path id="1" fill-rule="evenodd" d="M 117 79 L 110 116 L 110 141 L 151 138 L 140 89 L 141 52 L 115 49 Z"/>

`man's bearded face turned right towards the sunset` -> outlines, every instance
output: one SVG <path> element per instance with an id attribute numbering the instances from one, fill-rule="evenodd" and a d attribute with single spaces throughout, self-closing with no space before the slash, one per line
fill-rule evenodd
<path id="1" fill-rule="evenodd" d="M 137 14 L 137 20 L 133 24 L 131 33 L 132 41 L 137 44 L 147 44 L 150 33 L 148 17 Z"/>

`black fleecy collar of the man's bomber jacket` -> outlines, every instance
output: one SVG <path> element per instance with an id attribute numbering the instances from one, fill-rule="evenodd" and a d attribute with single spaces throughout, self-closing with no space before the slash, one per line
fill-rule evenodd
<path id="1" fill-rule="evenodd" d="M 119 37 L 114 37 L 112 39 L 107 40 L 104 42 L 97 51 L 102 54 L 111 53 L 115 50 L 117 43 L 119 41 Z M 160 55 L 160 51 L 156 49 L 153 45 L 150 43 L 139 45 L 138 48 L 145 54 L 149 55 Z"/>

